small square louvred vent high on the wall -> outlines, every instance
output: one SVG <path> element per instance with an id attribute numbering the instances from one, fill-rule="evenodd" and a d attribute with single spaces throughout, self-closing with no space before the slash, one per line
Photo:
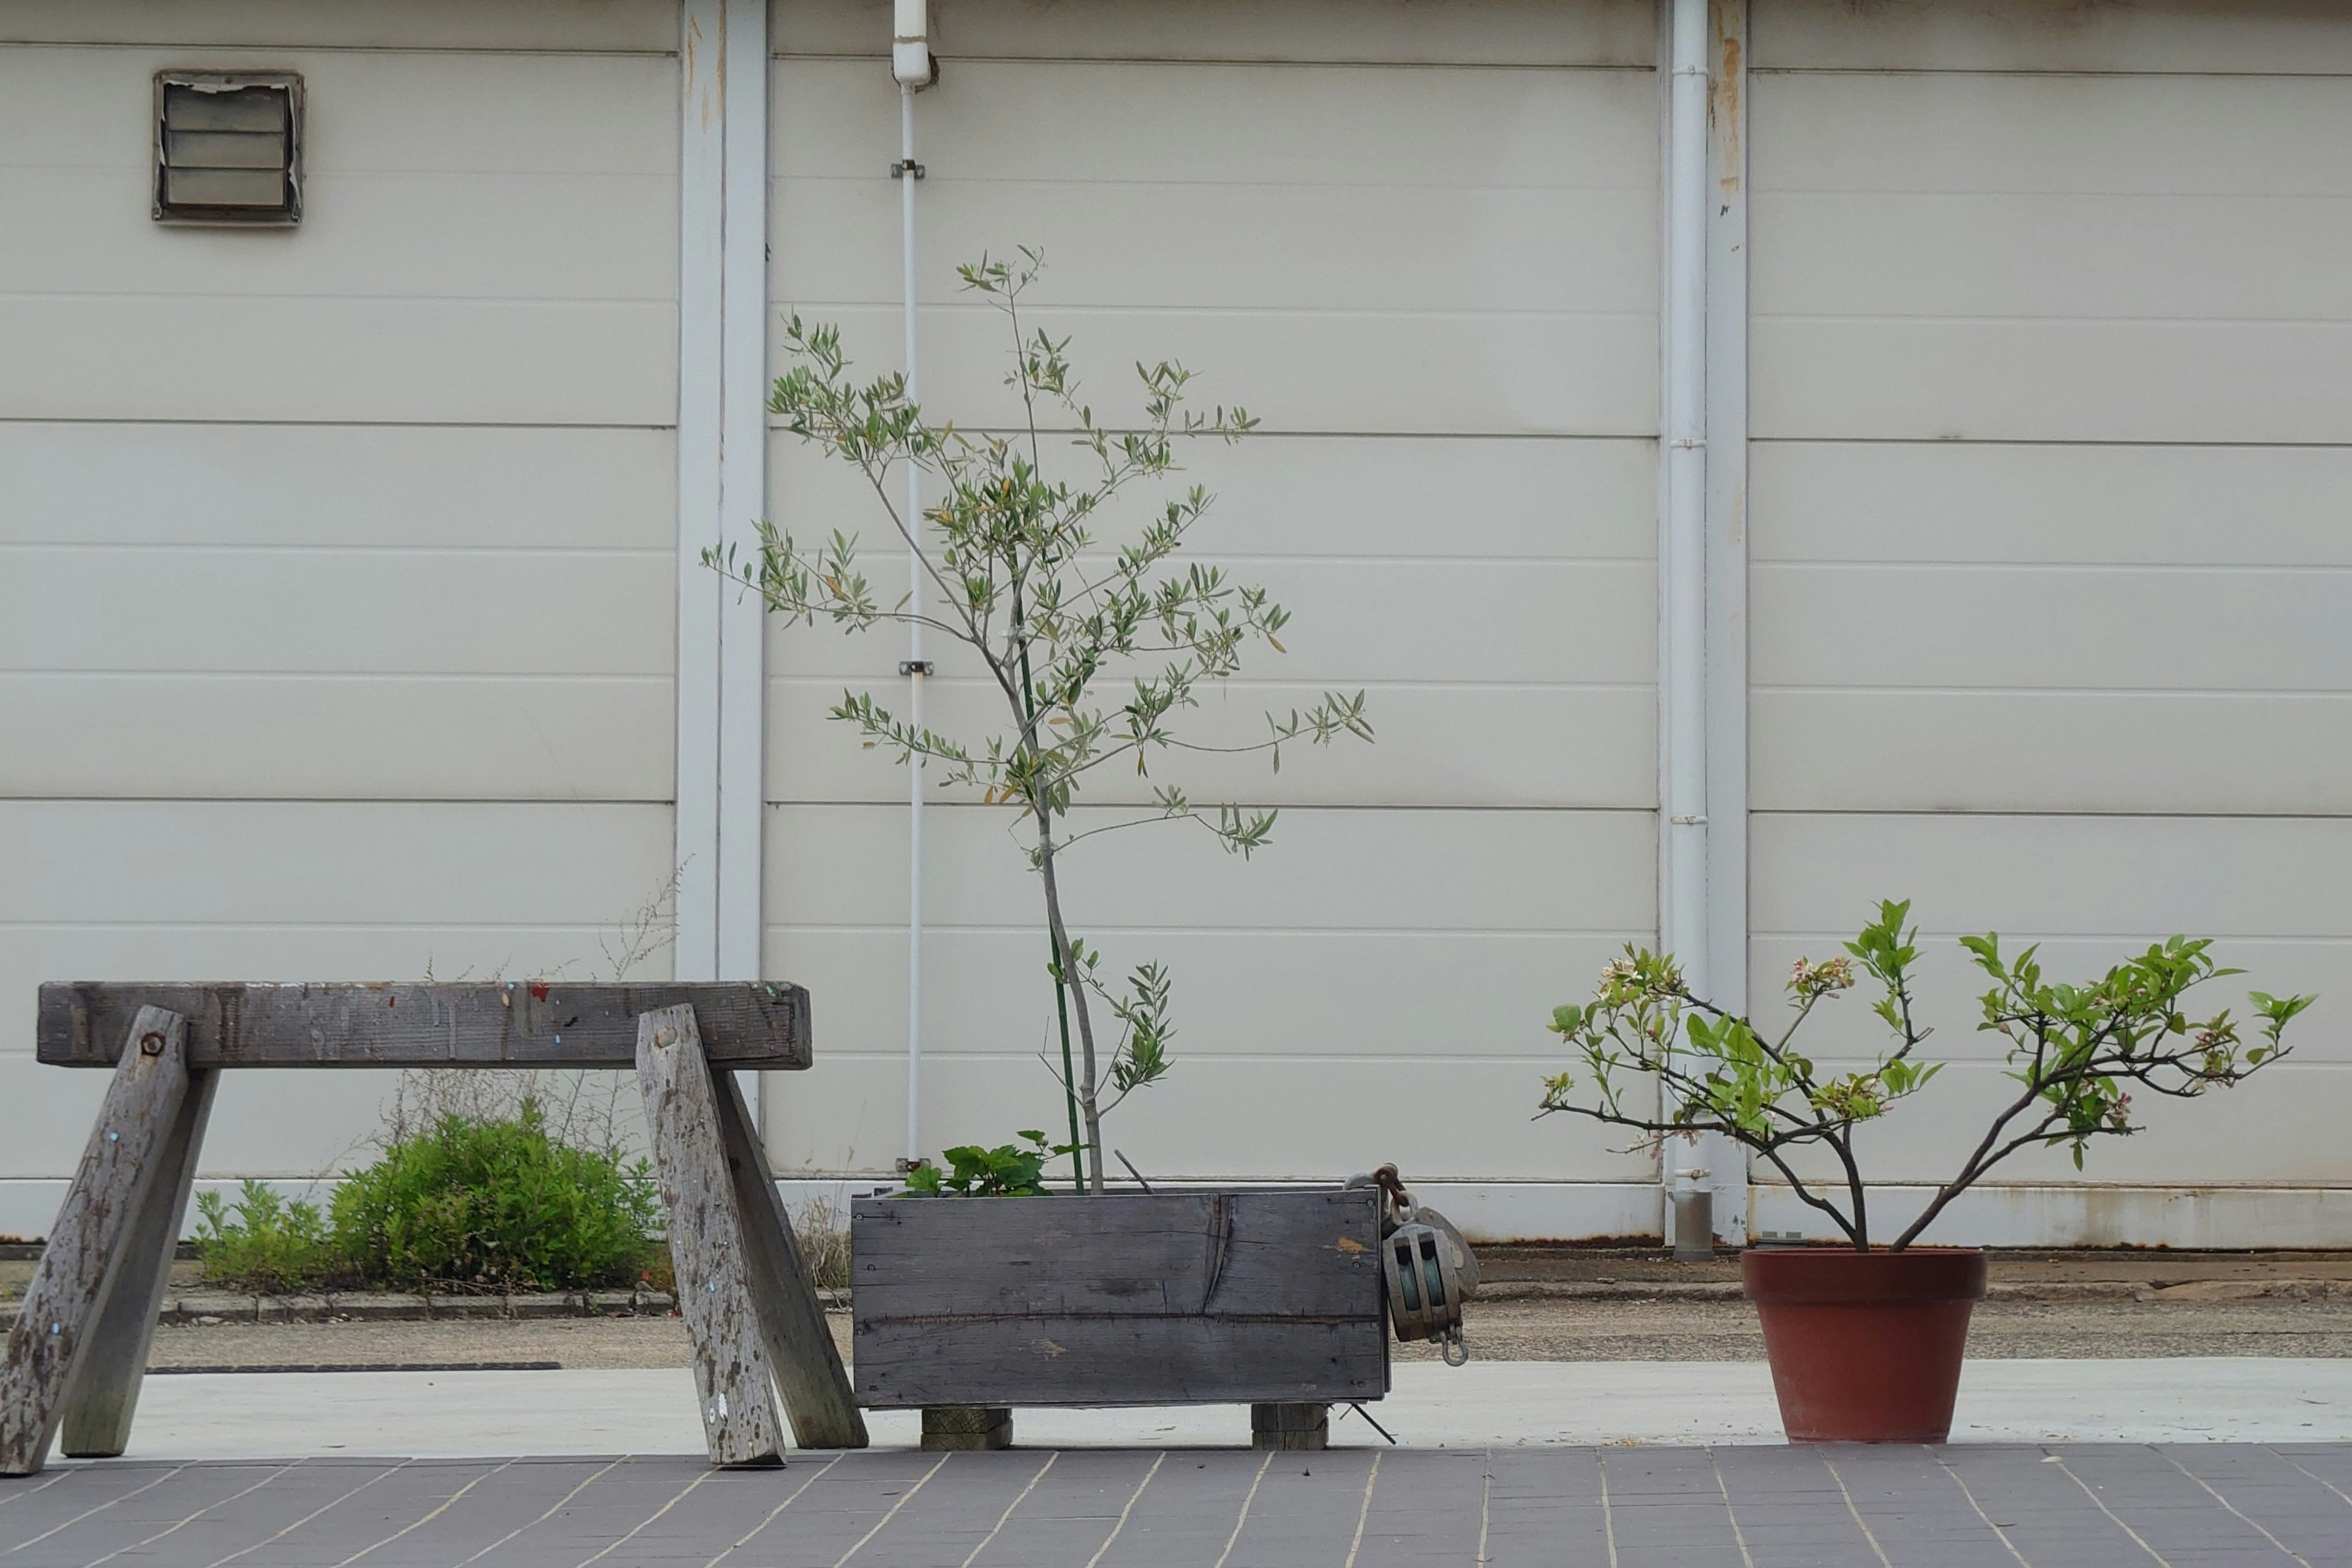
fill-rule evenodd
<path id="1" fill-rule="evenodd" d="M 155 221 L 301 223 L 301 78 L 158 71 Z"/>

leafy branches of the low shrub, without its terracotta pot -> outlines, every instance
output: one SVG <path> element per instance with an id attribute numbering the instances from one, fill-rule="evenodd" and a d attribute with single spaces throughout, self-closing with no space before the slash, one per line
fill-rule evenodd
<path id="1" fill-rule="evenodd" d="M 1583 1058 L 1592 1098 L 1571 1098 L 1573 1074 L 1555 1074 L 1543 1084 L 1538 1117 L 1571 1112 L 1635 1128 L 1649 1147 L 1693 1133 L 1731 1138 L 1762 1154 L 1858 1251 L 1870 1251 L 1853 1128 L 1919 1093 L 1940 1067 L 1917 1056 L 1929 1030 L 1912 1020 L 1910 978 L 1919 947 L 1905 919 L 1910 903 L 1882 903 L 1879 919 L 1863 926 L 1842 957 L 1797 959 L 1788 978 L 1792 1018 L 1776 1032 L 1693 997 L 1670 954 L 1625 947 L 1625 957 L 1602 971 L 1592 1001 L 1552 1011 L 1550 1027 Z M 2192 1020 L 2185 999 L 2194 987 L 2244 973 L 2216 969 L 2206 938 L 2157 943 L 2089 985 L 2044 978 L 2037 947 L 2004 957 L 1997 933 L 1959 943 L 1992 980 L 1976 1027 L 2009 1044 L 2009 1077 L 2018 1091 L 1889 1251 L 1910 1246 L 1952 1199 L 2020 1150 L 2067 1147 L 2082 1168 L 2093 1138 L 2138 1131 L 2131 1088 L 2192 1100 L 2244 1081 L 2286 1053 L 2286 1023 L 2317 1001 L 2249 992 L 2253 1018 L 2244 1025 L 2227 1011 Z M 1797 1048 L 1797 1030 L 1816 1006 L 1856 985 L 1856 966 L 1879 985 L 1872 1011 L 1893 1039 L 1870 1067 L 1825 1072 Z M 2241 1027 L 2253 1027 L 2251 1041 Z M 1651 1091 L 1656 1110 L 1646 1110 Z M 1790 1154 L 1809 1145 L 1837 1159 L 1844 1204 L 1816 1192 L 1790 1166 Z"/>

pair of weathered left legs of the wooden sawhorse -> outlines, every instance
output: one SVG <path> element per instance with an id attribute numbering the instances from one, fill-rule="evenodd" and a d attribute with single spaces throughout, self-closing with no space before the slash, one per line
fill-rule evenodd
<path id="1" fill-rule="evenodd" d="M 47 1465 L 59 1420 L 71 1455 L 129 1441 L 212 1077 L 188 1070 L 179 1013 L 139 1009 L 0 1361 L 0 1474 Z"/>

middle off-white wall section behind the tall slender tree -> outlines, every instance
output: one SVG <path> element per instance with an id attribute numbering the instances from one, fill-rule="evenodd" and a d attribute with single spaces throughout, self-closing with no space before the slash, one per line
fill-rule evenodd
<path id="1" fill-rule="evenodd" d="M 1656 924 L 1658 82 L 1649 5 L 934 9 L 917 99 L 927 402 L 1007 416 L 995 322 L 953 263 L 1042 244 L 1037 322 L 1098 414 L 1181 357 L 1265 433 L 1202 449 L 1209 559 L 1296 611 L 1200 722 L 1371 691 L 1381 741 L 1176 769 L 1284 806 L 1225 858 L 1160 827 L 1073 851 L 1105 961 L 1162 957 L 1176 1070 L 1112 1119 L 1157 1175 L 1644 1182 L 1531 1126 L 1564 985 Z M 887 12 L 776 12 L 774 296 L 898 364 Z M 779 350 L 781 369 L 781 350 Z M 887 534 L 793 437 L 776 517 Z M 877 578 L 889 581 L 889 550 Z M 903 1070 L 903 776 L 821 715 L 894 689 L 896 637 L 779 635 L 769 971 L 816 990 L 818 1065 L 771 1084 L 786 1164 L 887 1168 Z M 927 698 L 988 722 L 969 670 Z M 1129 792 L 1136 795 L 1136 792 Z M 1110 795 L 1108 799 L 1117 799 Z M 1098 820 L 1098 818 L 1094 818 Z M 1056 1126 L 1037 893 L 1000 811 L 934 813 L 927 1140 Z M 1646 1208 L 1644 1208 L 1646 1213 Z"/>

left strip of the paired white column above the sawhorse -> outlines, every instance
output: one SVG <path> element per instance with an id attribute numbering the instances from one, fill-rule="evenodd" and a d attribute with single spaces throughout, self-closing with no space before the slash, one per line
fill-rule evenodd
<path id="1" fill-rule="evenodd" d="M 680 980 L 720 969 L 720 233 L 727 2 L 684 0 L 677 75 L 677 938 Z"/>

